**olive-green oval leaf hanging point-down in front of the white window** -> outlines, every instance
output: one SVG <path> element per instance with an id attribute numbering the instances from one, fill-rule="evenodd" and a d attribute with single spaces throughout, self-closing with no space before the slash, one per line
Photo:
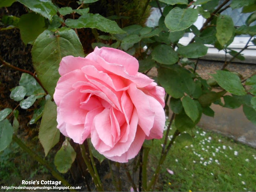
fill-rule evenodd
<path id="1" fill-rule="evenodd" d="M 220 45 L 226 45 L 228 41 L 232 38 L 235 30 L 232 18 L 228 15 L 218 16 L 216 30 L 216 37 Z"/>

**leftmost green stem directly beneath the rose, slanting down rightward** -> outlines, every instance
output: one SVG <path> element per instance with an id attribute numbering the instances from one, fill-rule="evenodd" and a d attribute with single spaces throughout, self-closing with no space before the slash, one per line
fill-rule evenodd
<path id="1" fill-rule="evenodd" d="M 98 190 L 98 191 L 103 191 L 102 186 L 99 184 L 98 179 L 97 179 L 97 177 L 96 177 L 96 174 L 95 174 L 95 172 L 94 172 L 94 170 L 93 170 L 93 168 L 92 168 L 92 165 L 91 165 L 91 163 L 90 163 L 90 160 L 89 160 L 89 158 L 88 158 L 88 156 L 87 156 L 87 153 L 86 153 L 86 150 L 85 150 L 85 147 L 84 147 L 83 144 L 80 145 L 80 150 L 81 150 L 81 153 L 82 153 L 82 157 L 83 157 L 83 159 L 84 159 L 84 162 L 85 162 L 85 164 L 86 164 L 86 166 L 87 166 L 87 168 L 88 168 L 88 171 L 89 171 L 90 175 L 92 176 L 92 180 L 93 180 L 93 182 L 94 182 L 94 184 L 95 184 L 97 190 Z"/>

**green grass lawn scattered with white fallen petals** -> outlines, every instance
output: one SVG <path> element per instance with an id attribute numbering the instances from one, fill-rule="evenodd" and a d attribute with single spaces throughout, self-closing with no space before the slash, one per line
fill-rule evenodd
<path id="1" fill-rule="evenodd" d="M 192 133 L 192 145 L 170 149 L 156 190 L 256 191 L 256 149 L 198 127 Z M 161 143 L 154 140 L 153 162 Z"/>

